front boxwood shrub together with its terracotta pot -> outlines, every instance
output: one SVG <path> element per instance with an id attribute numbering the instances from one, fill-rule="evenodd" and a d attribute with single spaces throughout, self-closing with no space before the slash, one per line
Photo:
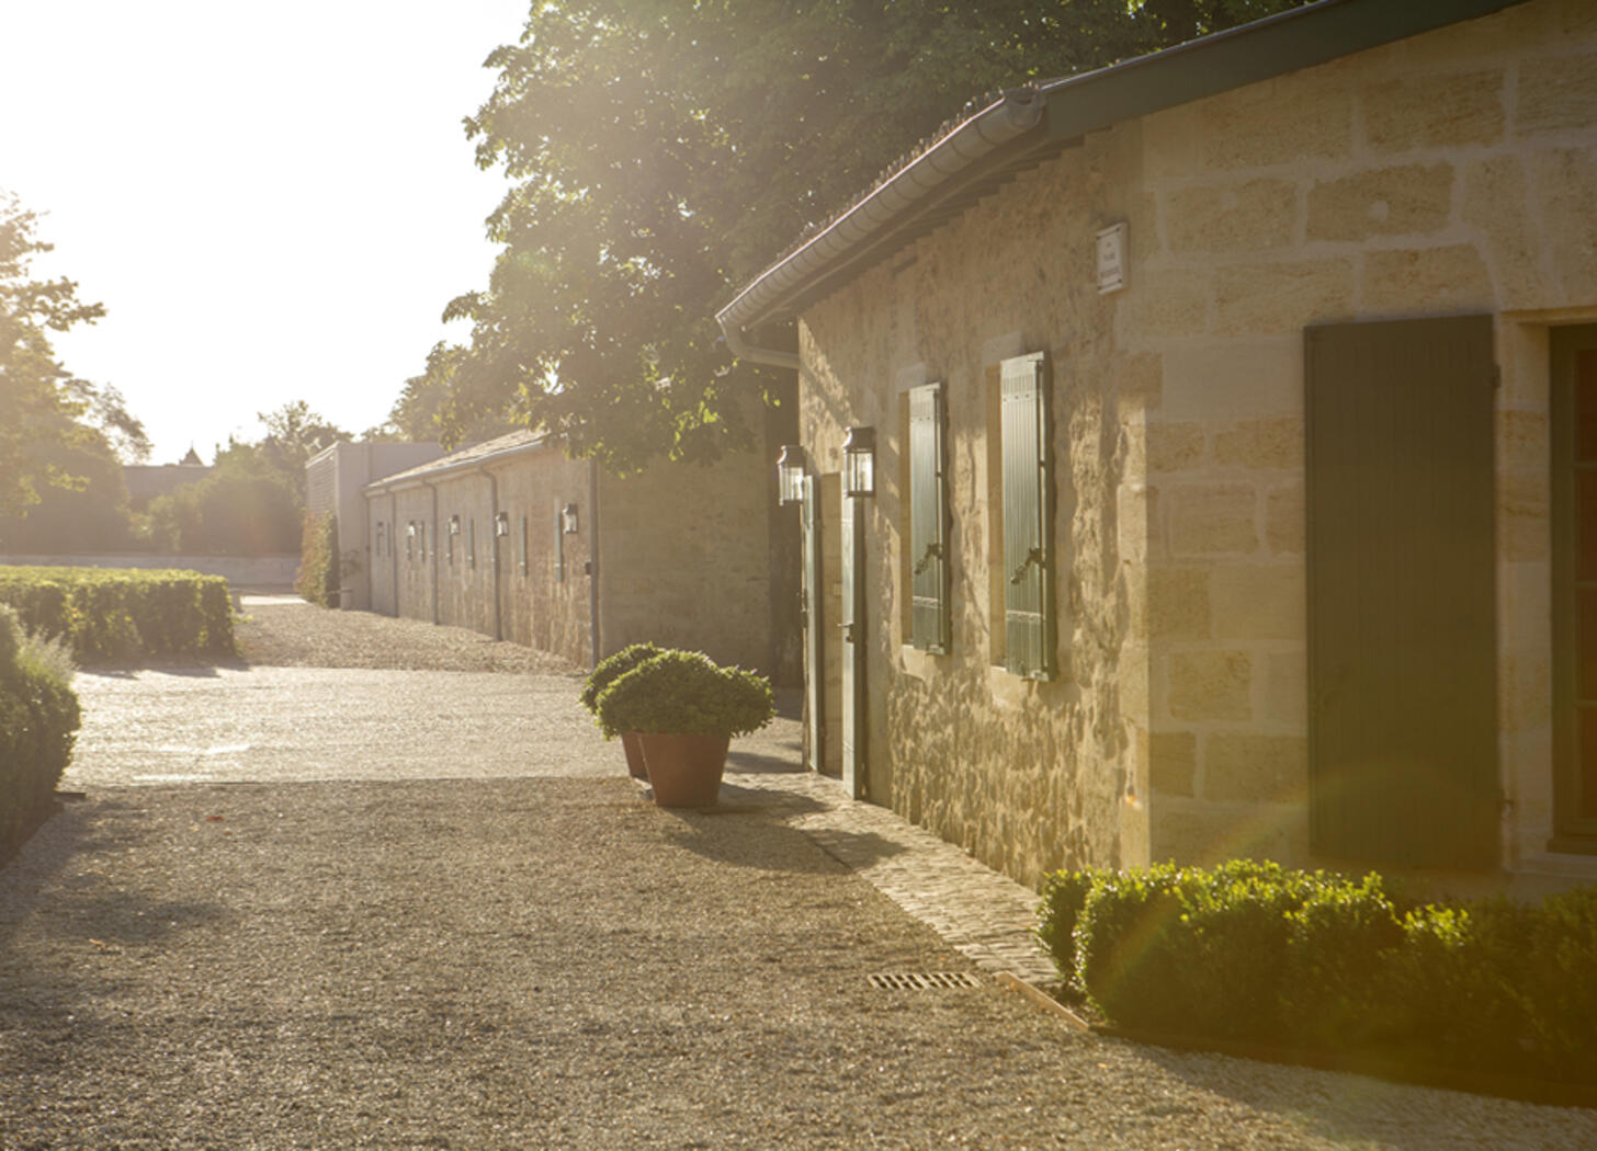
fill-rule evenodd
<path id="1" fill-rule="evenodd" d="M 771 685 L 701 651 L 663 651 L 620 675 L 597 699 L 605 736 L 636 731 L 663 808 L 707 808 L 720 793 L 733 736 L 776 712 Z"/>

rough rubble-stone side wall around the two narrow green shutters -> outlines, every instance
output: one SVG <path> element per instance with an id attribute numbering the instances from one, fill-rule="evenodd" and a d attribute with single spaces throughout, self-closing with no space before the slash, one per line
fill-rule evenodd
<path id="1" fill-rule="evenodd" d="M 1145 546 L 1135 488 L 1158 377 L 1094 335 L 1108 330 L 1113 302 L 1091 275 L 1100 219 L 1145 211 L 1123 195 L 1135 187 L 1131 144 L 1112 133 L 1022 176 L 800 324 L 800 434 L 814 468 L 842 469 L 850 425 L 877 429 L 877 495 L 862 508 L 866 792 L 1030 883 L 1056 867 L 1147 857 L 1147 653 L 1129 618 L 1140 575 L 1124 560 Z M 989 401 L 1000 361 L 1028 351 L 1049 353 L 1052 366 L 1060 672 L 1048 683 L 995 666 L 1003 581 L 990 578 L 1001 559 L 990 543 L 998 429 Z M 901 396 L 933 380 L 945 385 L 949 428 L 945 656 L 905 647 L 899 562 L 909 532 Z M 835 524 L 837 508 L 826 516 Z"/>

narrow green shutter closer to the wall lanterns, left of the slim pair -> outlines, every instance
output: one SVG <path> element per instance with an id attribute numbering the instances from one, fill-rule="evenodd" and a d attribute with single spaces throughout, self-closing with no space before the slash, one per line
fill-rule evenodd
<path id="1" fill-rule="evenodd" d="M 942 385 L 909 393 L 910 643 L 949 651 L 949 500 Z"/>

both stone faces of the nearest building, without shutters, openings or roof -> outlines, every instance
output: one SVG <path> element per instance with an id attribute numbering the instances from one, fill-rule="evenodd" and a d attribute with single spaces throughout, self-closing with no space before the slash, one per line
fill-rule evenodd
<path id="1" fill-rule="evenodd" d="M 1597 318 L 1597 13 L 1496 16 L 1089 136 L 810 308 L 822 473 L 878 429 L 869 793 L 1025 881 L 1306 841 L 1303 329 L 1493 313 L 1504 864 L 1551 827 L 1547 332 Z M 1099 295 L 1094 235 L 1129 225 Z M 1046 351 L 1060 674 L 995 667 L 987 394 Z M 905 647 L 901 396 L 949 398 L 953 650 Z M 1001 613 L 998 615 L 1001 619 Z"/>

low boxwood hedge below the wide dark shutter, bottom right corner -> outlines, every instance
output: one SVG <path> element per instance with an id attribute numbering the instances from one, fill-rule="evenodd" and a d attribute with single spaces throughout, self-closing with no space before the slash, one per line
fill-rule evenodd
<path id="1" fill-rule="evenodd" d="M 1116 1026 L 1597 1084 L 1597 888 L 1421 905 L 1250 860 L 1059 872 L 1038 937 Z"/>

